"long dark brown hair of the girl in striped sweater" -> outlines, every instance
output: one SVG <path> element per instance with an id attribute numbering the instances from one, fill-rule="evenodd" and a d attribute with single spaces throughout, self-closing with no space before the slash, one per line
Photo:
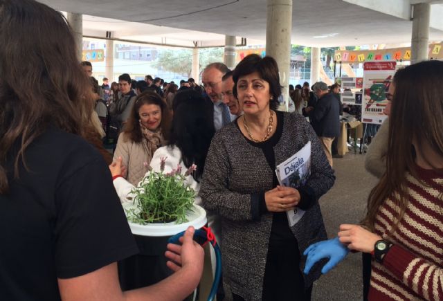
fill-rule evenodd
<path id="1" fill-rule="evenodd" d="M 365 226 L 374 230 L 380 206 L 392 197 L 400 208 L 392 232 L 408 205 L 406 172 L 417 178 L 414 145 L 427 143 L 443 156 L 443 62 L 419 62 L 401 69 L 395 73 L 393 84 L 386 173 L 370 192 L 368 215 L 363 220 Z"/>

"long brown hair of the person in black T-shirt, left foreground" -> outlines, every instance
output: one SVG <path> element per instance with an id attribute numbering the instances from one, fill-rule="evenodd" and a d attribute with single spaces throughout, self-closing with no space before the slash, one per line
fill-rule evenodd
<path id="1" fill-rule="evenodd" d="M 24 38 L 26 37 L 26 38 Z M 26 167 L 26 148 L 48 125 L 86 136 L 93 110 L 89 81 L 66 19 L 32 0 L 0 1 L 0 194 L 8 192 L 6 158 Z"/>

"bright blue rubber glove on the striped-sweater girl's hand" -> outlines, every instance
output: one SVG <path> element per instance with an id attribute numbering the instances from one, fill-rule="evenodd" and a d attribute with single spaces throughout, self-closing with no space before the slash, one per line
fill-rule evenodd
<path id="1" fill-rule="evenodd" d="M 303 252 L 303 255 L 307 255 L 305 271 L 303 273 L 309 274 L 316 262 L 323 258 L 329 258 L 329 261 L 321 269 L 321 273 L 325 274 L 345 259 L 347 253 L 349 253 L 349 249 L 338 240 L 338 237 L 311 244 Z"/>

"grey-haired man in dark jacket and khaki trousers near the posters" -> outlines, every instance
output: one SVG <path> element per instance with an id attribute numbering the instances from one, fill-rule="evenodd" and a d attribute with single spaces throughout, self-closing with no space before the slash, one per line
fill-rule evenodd
<path id="1" fill-rule="evenodd" d="M 327 84 L 324 82 L 317 82 L 314 84 L 314 93 L 316 94 L 318 101 L 315 107 L 309 108 L 309 118 L 311 119 L 311 125 L 316 131 L 320 143 L 325 150 L 327 161 L 332 167 L 332 141 L 340 134 L 340 121 L 339 113 L 340 106 L 334 95 L 329 93 Z"/>

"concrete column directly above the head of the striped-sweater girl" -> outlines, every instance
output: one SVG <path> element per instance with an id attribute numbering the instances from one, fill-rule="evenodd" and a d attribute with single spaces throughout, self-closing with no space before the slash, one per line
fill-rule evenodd
<path id="1" fill-rule="evenodd" d="M 413 37 L 410 43 L 410 64 L 428 60 L 431 4 L 414 4 L 413 10 Z"/>

